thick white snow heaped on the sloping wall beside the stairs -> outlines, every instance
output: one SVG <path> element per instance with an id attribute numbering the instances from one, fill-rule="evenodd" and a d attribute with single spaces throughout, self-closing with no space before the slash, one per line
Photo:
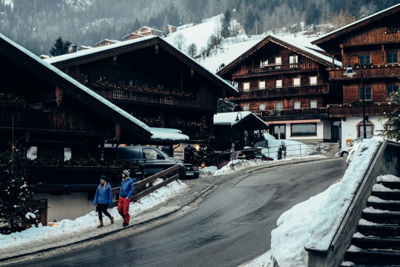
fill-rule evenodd
<path id="1" fill-rule="evenodd" d="M 308 255 L 304 247 L 328 250 L 355 188 L 367 171 L 367 163 L 382 141 L 381 137 L 363 140 L 341 181 L 279 217 L 278 227 L 271 232 L 271 253 L 279 266 L 306 267 Z"/>

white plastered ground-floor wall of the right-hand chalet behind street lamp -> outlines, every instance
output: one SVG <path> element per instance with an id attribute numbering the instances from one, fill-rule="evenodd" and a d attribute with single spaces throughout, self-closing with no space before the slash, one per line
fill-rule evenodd
<path id="1" fill-rule="evenodd" d="M 373 124 L 373 135 L 379 135 L 379 130 L 384 129 L 384 121 L 379 121 L 381 117 L 370 116 L 367 122 Z M 342 119 L 342 147 L 346 146 L 346 140 L 350 142 L 356 139 L 357 136 L 357 124 L 363 122 L 363 117 L 347 117 L 346 121 Z M 349 142 L 349 141 L 348 141 Z"/>

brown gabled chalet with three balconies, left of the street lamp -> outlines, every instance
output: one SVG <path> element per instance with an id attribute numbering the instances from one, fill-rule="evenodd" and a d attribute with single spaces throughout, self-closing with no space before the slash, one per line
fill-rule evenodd
<path id="1" fill-rule="evenodd" d="M 267 122 L 275 138 L 323 141 L 338 139 L 327 109 L 342 98 L 329 84 L 334 66 L 341 64 L 307 39 L 268 35 L 217 75 L 238 87 L 229 100 Z"/>

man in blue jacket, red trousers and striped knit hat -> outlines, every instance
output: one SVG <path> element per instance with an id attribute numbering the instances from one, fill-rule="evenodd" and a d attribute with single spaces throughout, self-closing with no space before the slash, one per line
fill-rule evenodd
<path id="1" fill-rule="evenodd" d="M 126 169 L 122 172 L 121 189 L 119 189 L 119 200 L 118 200 L 118 213 L 124 218 L 123 227 L 129 225 L 129 203 L 131 202 L 131 196 L 133 194 L 133 181 L 129 177 L 130 170 Z"/>

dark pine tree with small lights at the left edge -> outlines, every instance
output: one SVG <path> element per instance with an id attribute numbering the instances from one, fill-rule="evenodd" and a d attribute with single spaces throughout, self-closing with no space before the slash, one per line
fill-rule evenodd
<path id="1" fill-rule="evenodd" d="M 7 142 L 10 150 L 1 155 L 3 164 L 0 165 L 0 222 L 4 224 L 0 227 L 2 234 L 24 229 L 26 215 L 31 212 L 29 201 L 33 199 L 34 189 L 34 186 L 26 181 L 30 163 L 17 147 L 18 140 Z"/>

